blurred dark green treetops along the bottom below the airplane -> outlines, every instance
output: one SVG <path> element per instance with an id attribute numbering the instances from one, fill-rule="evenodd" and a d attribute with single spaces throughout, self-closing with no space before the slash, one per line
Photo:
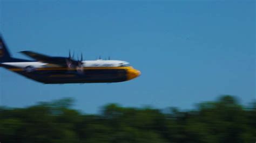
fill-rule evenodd
<path id="1" fill-rule="evenodd" d="M 255 142 L 256 102 L 233 96 L 192 111 L 104 106 L 100 115 L 73 110 L 70 98 L 24 109 L 0 108 L 1 142 Z"/>

